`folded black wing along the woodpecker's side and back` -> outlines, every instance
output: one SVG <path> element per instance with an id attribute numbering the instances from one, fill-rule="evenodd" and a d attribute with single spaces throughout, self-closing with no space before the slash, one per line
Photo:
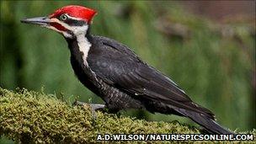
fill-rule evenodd
<path id="1" fill-rule="evenodd" d="M 214 119 L 210 110 L 193 103 L 177 84 L 147 66 L 128 47 L 108 38 L 94 38 L 97 44 L 91 48 L 88 64 L 105 83 L 144 100 L 161 102 L 173 109 L 195 111 Z"/>

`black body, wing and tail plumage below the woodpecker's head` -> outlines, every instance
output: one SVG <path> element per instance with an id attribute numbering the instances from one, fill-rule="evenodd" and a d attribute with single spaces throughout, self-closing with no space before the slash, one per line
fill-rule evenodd
<path id="1" fill-rule="evenodd" d="M 86 35 L 92 44 L 88 66 L 76 39 L 67 39 L 72 68 L 78 79 L 99 95 L 110 111 L 147 109 L 162 114 L 183 115 L 210 133 L 232 133 L 218 125 L 214 114 L 195 104 L 171 79 L 141 61 L 127 46 L 101 36 Z"/>

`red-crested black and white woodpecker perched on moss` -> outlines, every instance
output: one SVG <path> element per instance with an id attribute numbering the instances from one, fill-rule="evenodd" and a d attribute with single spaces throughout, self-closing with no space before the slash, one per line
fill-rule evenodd
<path id="1" fill-rule="evenodd" d="M 96 11 L 70 5 L 57 9 L 47 17 L 23 19 L 53 29 L 67 40 L 72 68 L 78 79 L 105 104 L 95 109 L 147 109 L 162 114 L 189 117 L 206 131 L 232 134 L 216 123 L 215 115 L 195 104 L 179 86 L 147 63 L 126 45 L 102 36 L 90 34 L 90 24 Z"/>

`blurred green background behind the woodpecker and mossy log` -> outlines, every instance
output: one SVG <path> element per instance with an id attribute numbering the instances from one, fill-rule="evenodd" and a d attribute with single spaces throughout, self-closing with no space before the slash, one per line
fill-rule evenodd
<path id="1" fill-rule="evenodd" d="M 79 96 L 86 102 L 103 103 L 75 77 L 61 35 L 19 21 L 69 4 L 83 5 L 98 10 L 93 35 L 131 47 L 195 102 L 211 109 L 221 125 L 252 130 L 256 127 L 255 1 L 237 2 L 1 1 L 0 86 L 35 91 L 43 87 L 45 93 L 70 101 Z M 138 110 L 123 114 L 191 122 Z"/>

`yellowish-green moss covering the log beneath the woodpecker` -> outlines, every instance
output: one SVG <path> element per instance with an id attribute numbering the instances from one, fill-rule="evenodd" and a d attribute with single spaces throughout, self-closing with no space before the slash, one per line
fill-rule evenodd
<path id="1" fill-rule="evenodd" d="M 0 136 L 24 143 L 84 143 L 95 142 L 97 134 L 116 133 L 195 134 L 200 131 L 178 122 L 149 122 L 102 112 L 97 112 L 97 118 L 93 119 L 88 107 L 72 107 L 56 99 L 56 95 L 0 88 Z"/>

